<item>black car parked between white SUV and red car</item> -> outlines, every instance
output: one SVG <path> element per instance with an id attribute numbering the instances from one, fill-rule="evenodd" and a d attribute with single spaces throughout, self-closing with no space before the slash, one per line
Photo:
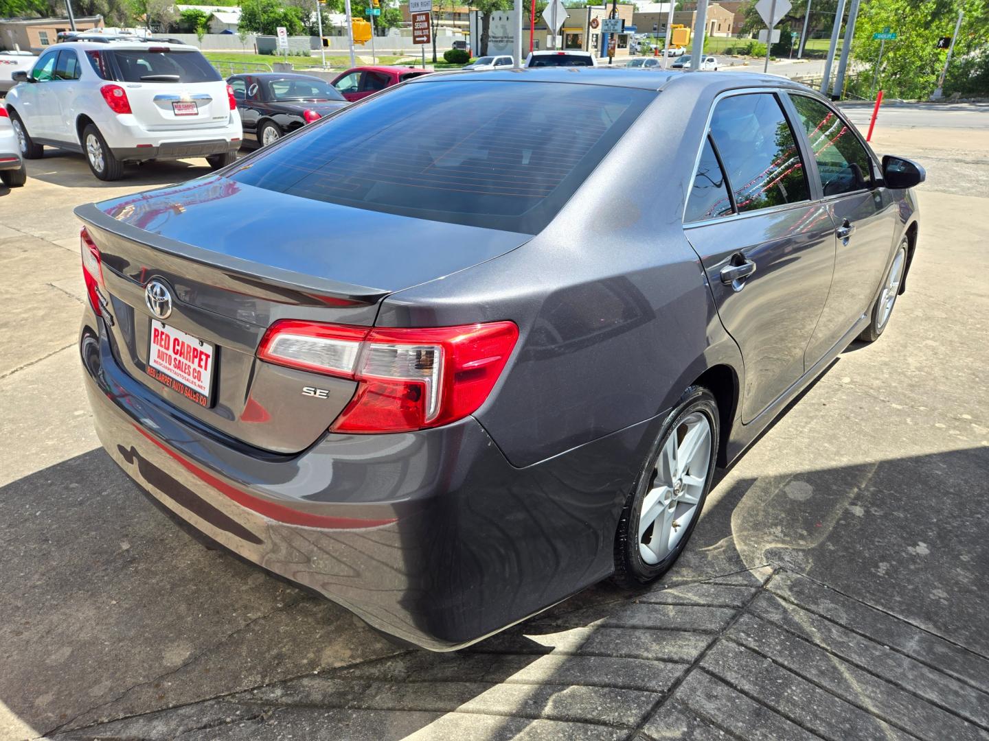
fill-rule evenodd
<path id="1" fill-rule="evenodd" d="M 349 104 L 336 88 L 312 75 L 285 72 L 232 75 L 245 143 L 264 146 Z"/>

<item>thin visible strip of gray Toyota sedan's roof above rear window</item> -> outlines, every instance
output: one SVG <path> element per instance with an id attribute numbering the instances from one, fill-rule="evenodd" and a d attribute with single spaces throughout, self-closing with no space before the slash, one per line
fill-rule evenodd
<path id="1" fill-rule="evenodd" d="M 732 90 L 744 87 L 786 87 L 810 90 L 805 85 L 785 77 L 762 72 L 701 72 L 658 69 L 656 67 L 524 67 L 522 69 L 490 69 L 483 71 L 433 72 L 408 80 L 408 85 L 435 85 L 448 80 L 485 80 L 505 82 L 556 82 L 578 85 L 640 88 L 660 91 L 671 85 L 689 86 L 698 93 Z"/>

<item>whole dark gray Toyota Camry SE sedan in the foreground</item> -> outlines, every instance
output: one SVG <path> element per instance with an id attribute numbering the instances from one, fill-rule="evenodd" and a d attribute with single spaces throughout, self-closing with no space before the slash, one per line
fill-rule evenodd
<path id="1" fill-rule="evenodd" d="M 716 467 L 882 334 L 923 179 L 778 77 L 420 77 L 76 209 L 96 428 L 226 548 L 465 646 L 670 568 Z"/>

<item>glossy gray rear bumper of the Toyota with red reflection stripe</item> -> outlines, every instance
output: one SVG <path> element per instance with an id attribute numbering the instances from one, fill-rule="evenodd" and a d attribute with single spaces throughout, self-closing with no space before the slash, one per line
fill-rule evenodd
<path id="1" fill-rule="evenodd" d="M 244 558 L 432 650 L 468 645 L 611 573 L 656 421 L 514 468 L 473 418 L 326 435 L 297 455 L 222 440 L 117 363 L 87 306 L 97 434 L 154 499 Z"/>

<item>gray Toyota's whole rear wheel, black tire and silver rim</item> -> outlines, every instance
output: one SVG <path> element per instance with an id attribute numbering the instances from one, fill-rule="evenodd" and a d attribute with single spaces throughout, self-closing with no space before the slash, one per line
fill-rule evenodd
<path id="1" fill-rule="evenodd" d="M 711 488 L 718 454 L 718 403 L 690 386 L 646 459 L 629 493 L 615 537 L 614 581 L 648 584 L 683 551 Z"/>

